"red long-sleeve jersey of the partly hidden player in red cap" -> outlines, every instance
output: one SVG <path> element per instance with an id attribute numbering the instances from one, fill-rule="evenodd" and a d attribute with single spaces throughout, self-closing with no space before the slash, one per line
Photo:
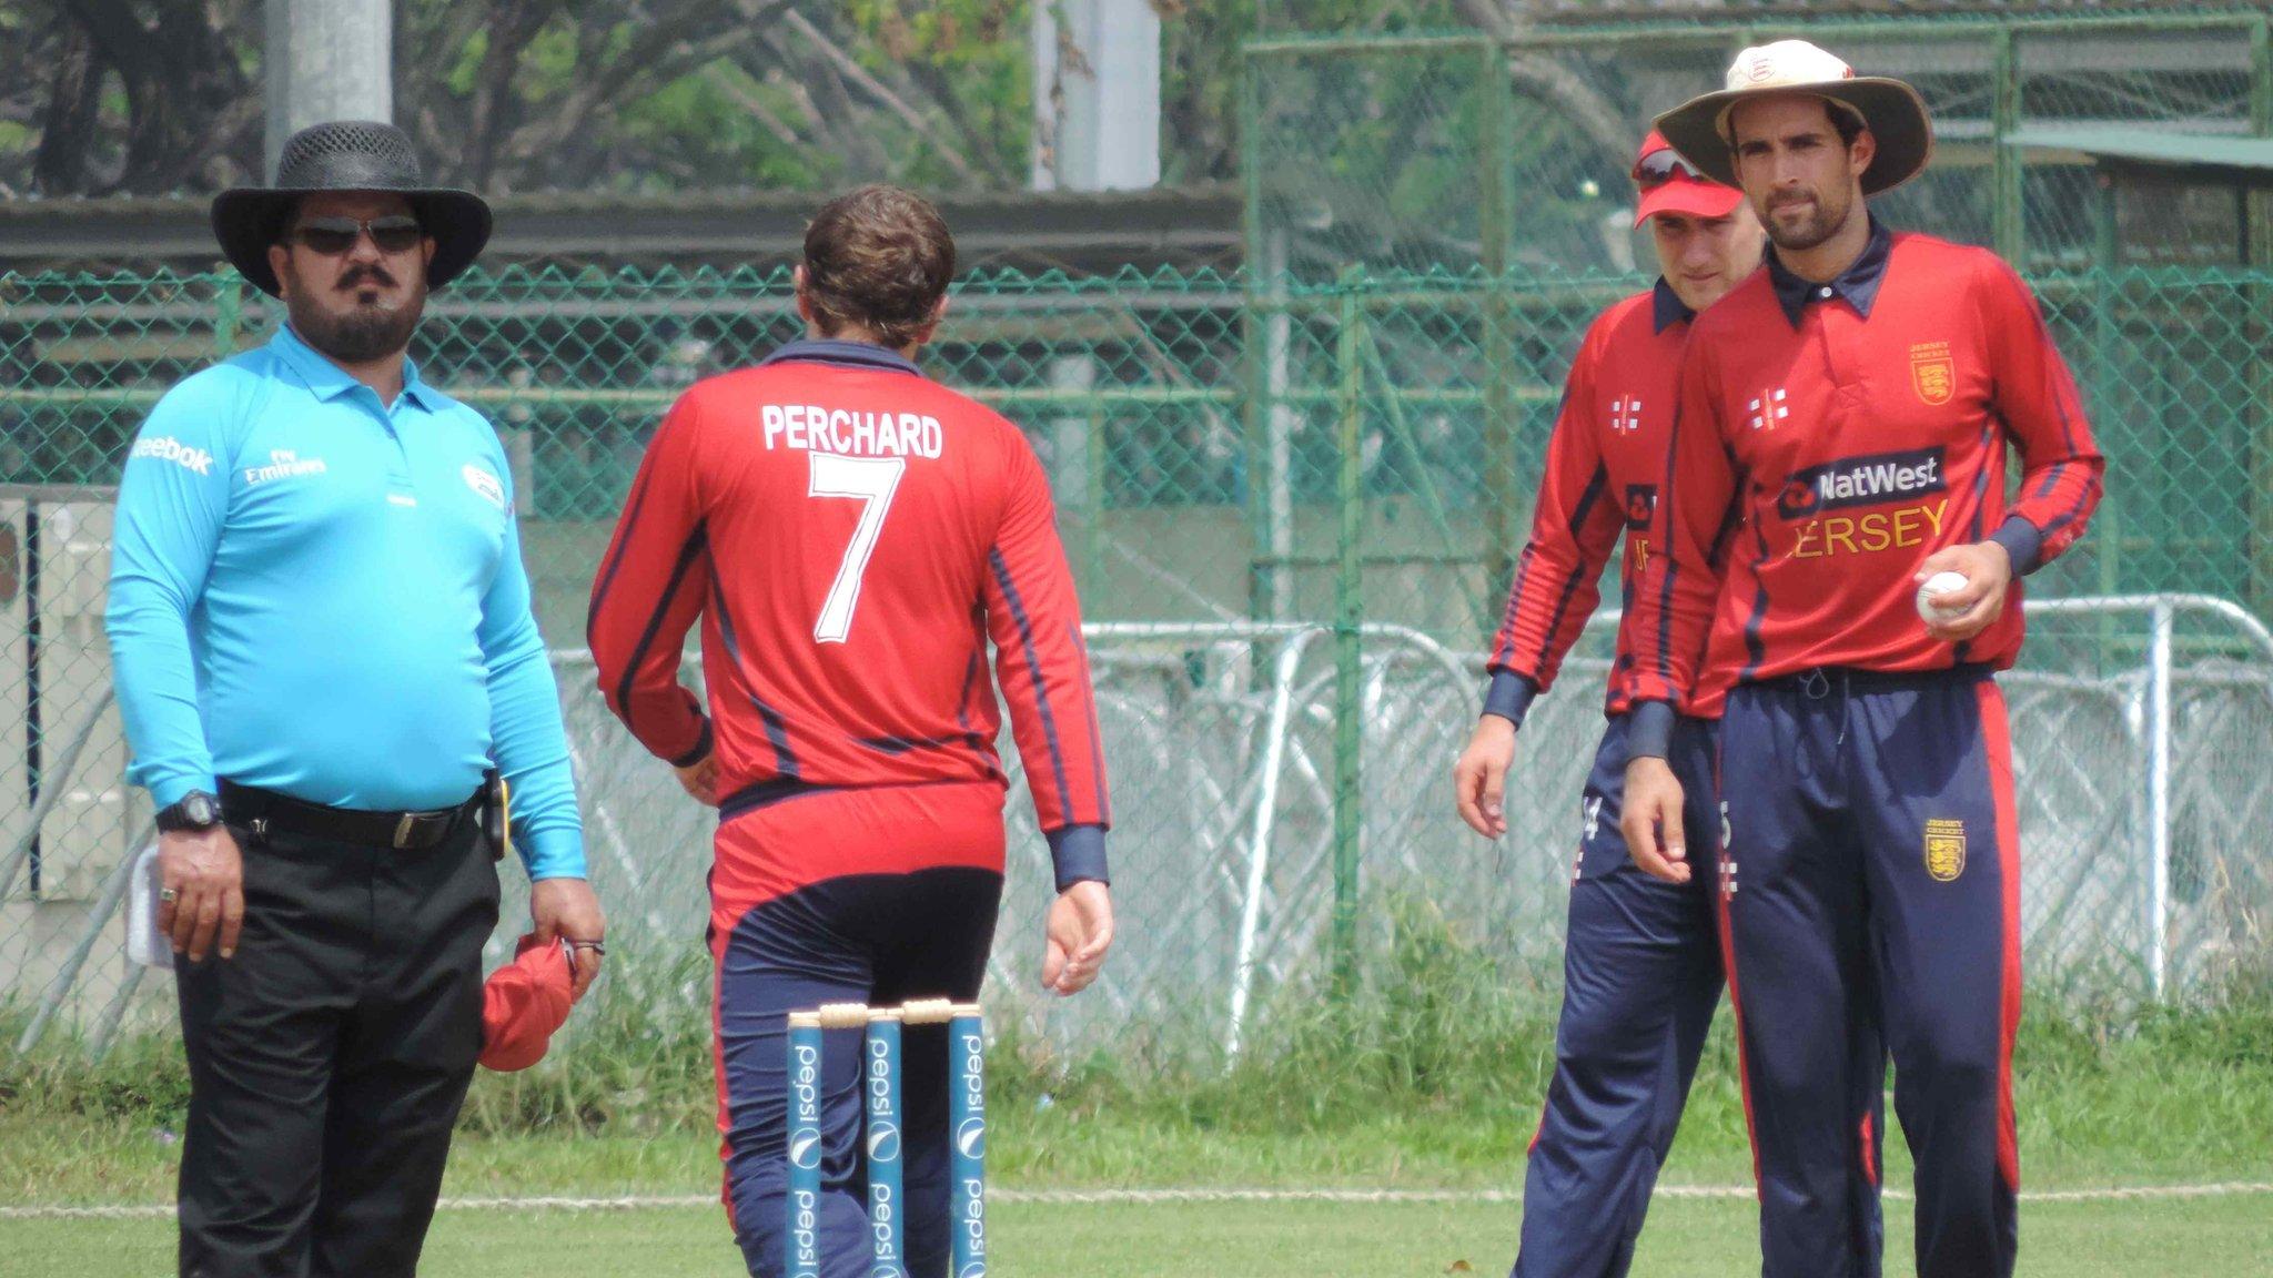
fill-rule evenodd
<path id="1" fill-rule="evenodd" d="M 1491 641 L 1487 712 L 1521 721 L 1530 694 L 1555 684 L 1564 655 L 1600 600 L 1602 564 L 1621 534 L 1625 557 L 1618 580 L 1627 612 L 1618 623 L 1607 712 L 1627 709 L 1632 594 L 1650 559 L 1648 528 L 1666 468 L 1689 318 L 1689 307 L 1659 280 L 1587 327 L 1548 437 L 1532 534 L 1516 557 L 1507 612 Z M 1502 675 L 1516 675 L 1530 689 L 1509 689 Z"/>

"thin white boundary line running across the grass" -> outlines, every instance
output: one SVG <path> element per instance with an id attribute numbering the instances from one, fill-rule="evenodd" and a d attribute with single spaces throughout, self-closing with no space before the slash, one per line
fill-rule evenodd
<path id="1" fill-rule="evenodd" d="M 2023 1203 L 2118 1203 L 2164 1198 L 2234 1198 L 2273 1194 L 2273 1182 L 2228 1180 L 2214 1185 L 2132 1185 L 2112 1189 L 2048 1189 L 2021 1194 Z M 1750 1198 L 1748 1185 L 1659 1185 L 1659 1198 Z M 1005 1205 L 1168 1205 L 1168 1203 L 1518 1203 L 1514 1189 L 991 1189 Z M 1887 1198 L 1909 1201 L 1903 1189 Z M 443 1198 L 446 1212 L 646 1212 L 664 1208 L 716 1208 L 714 1194 L 623 1196 L 623 1198 Z M 105 1208 L 0 1208 L 0 1221 L 141 1221 L 173 1217 L 173 1203 Z"/>

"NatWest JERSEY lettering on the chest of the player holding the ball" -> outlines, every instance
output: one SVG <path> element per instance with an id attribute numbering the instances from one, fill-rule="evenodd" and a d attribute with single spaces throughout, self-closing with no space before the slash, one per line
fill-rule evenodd
<path id="1" fill-rule="evenodd" d="M 1775 493 L 1775 514 L 1798 521 L 1793 559 L 1912 550 L 1941 537 L 1946 493 L 1941 448 L 1875 453 L 1793 471 Z M 1832 514 L 1857 507 L 1884 509 Z"/>

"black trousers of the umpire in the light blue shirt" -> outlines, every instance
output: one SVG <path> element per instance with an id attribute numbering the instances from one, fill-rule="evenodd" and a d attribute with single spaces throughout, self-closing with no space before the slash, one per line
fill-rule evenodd
<path id="1" fill-rule="evenodd" d="M 425 850 L 232 835 L 236 957 L 175 971 L 182 1276 L 416 1273 L 482 1051 L 498 871 L 480 823 Z"/>

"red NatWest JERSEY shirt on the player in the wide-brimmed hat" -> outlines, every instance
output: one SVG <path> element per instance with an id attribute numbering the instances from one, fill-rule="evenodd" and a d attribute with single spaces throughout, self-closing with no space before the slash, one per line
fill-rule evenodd
<path id="1" fill-rule="evenodd" d="M 1832 284 L 1771 255 L 1689 332 L 1634 698 L 1814 666 L 2007 669 L 2018 578 L 2082 537 L 2103 471 L 2043 314 L 1993 252 L 1873 223 Z M 2012 553 L 2012 598 L 1973 641 L 1932 639 L 1912 575 L 1982 539 Z"/>

